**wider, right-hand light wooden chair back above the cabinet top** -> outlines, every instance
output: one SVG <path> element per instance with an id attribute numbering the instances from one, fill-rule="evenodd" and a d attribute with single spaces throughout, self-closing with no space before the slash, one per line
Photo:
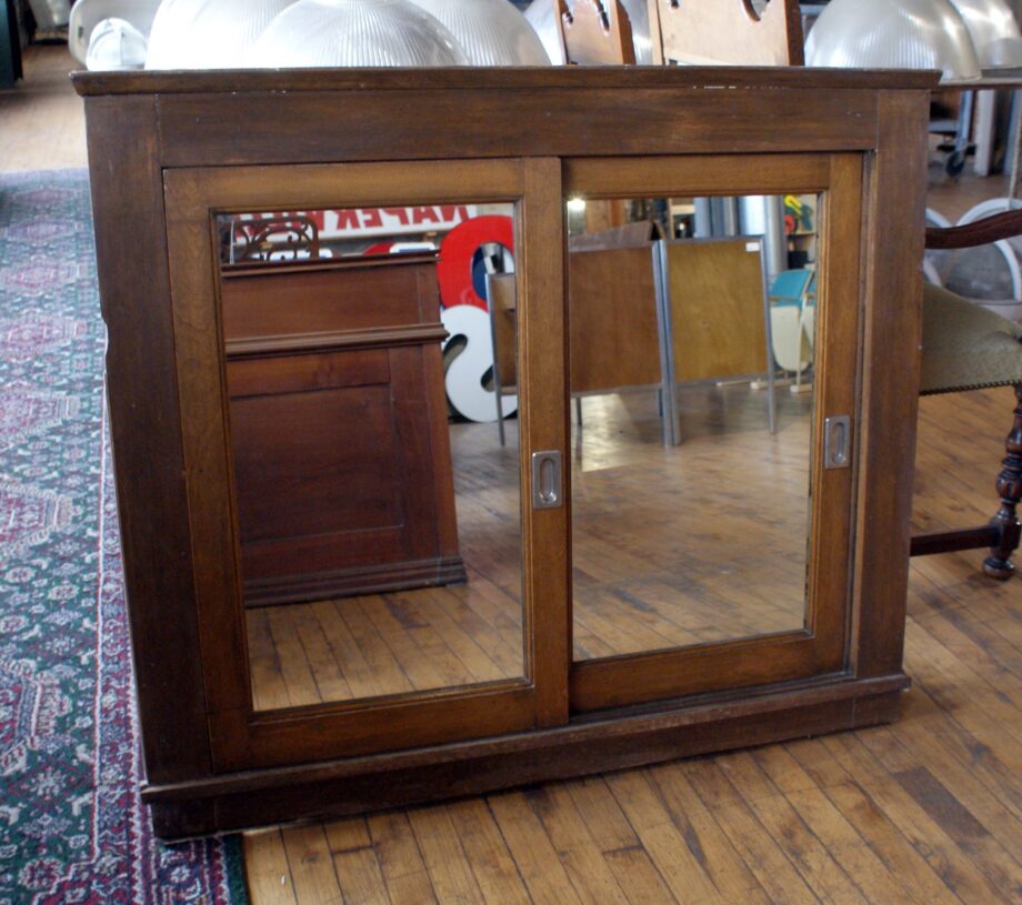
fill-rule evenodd
<path id="1" fill-rule="evenodd" d="M 649 0 L 654 62 L 803 66 L 798 0 Z M 659 54 L 659 58 L 658 58 Z"/>

